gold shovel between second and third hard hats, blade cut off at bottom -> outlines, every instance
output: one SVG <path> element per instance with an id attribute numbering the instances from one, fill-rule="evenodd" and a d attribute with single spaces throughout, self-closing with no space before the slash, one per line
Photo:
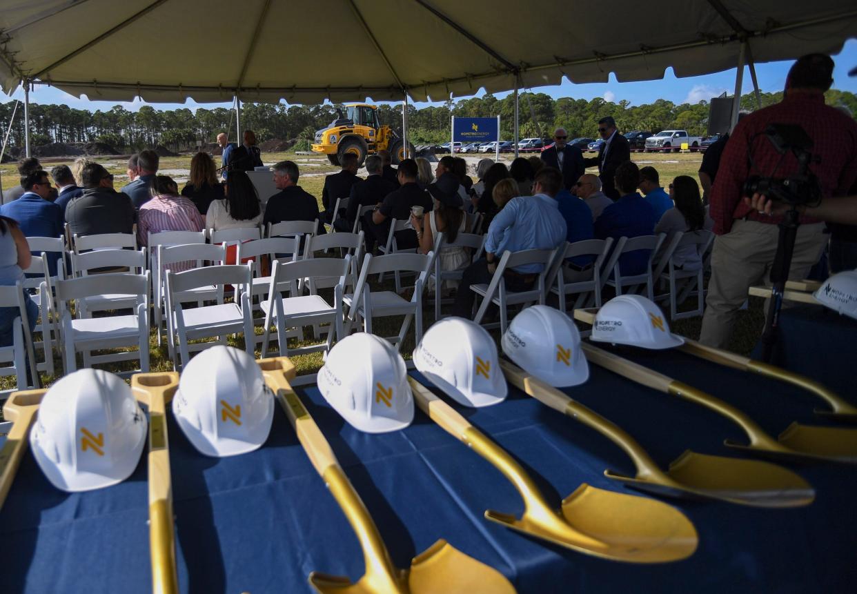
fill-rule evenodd
<path id="1" fill-rule="evenodd" d="M 414 557 L 409 569 L 395 567 L 369 510 L 339 466 L 321 429 L 291 389 L 288 380 L 295 376 L 294 365 L 288 357 L 273 357 L 261 359 L 259 366 L 309 461 L 339 503 L 363 549 L 366 571 L 357 584 L 345 577 L 313 572 L 309 574 L 309 583 L 317 591 L 322 594 L 512 594 L 515 591 L 500 572 L 464 555 L 443 539 Z"/>

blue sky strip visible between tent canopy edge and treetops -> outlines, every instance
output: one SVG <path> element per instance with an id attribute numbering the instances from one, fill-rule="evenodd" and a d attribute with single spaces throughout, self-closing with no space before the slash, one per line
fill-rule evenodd
<path id="1" fill-rule="evenodd" d="M 836 60 L 836 69 L 834 70 L 833 87 L 842 91 L 850 91 L 857 93 L 857 76 L 849 77 L 848 70 L 857 66 L 857 40 L 850 39 L 844 45 L 842 52 L 834 57 Z M 781 91 L 785 86 L 786 74 L 791 62 L 773 62 L 757 64 L 756 74 L 758 76 L 758 84 L 762 91 L 775 92 Z M 606 83 L 592 83 L 584 85 L 574 85 L 571 82 L 563 82 L 561 85 L 553 87 L 538 87 L 533 90 L 542 93 L 548 93 L 554 98 L 572 97 L 575 99 L 594 99 L 603 97 L 608 101 L 619 101 L 627 99 L 632 105 L 641 105 L 651 103 L 656 99 L 668 99 L 674 103 L 684 103 L 686 101 L 696 103 L 702 99 L 710 99 L 717 96 L 723 91 L 729 94 L 734 92 L 735 84 L 735 69 L 729 69 L 724 72 L 718 72 L 712 75 L 692 76 L 688 78 L 676 78 L 673 75 L 672 69 L 667 71 L 667 75 L 661 81 L 644 81 L 644 82 L 616 82 L 613 75 L 610 76 L 610 81 Z M 752 81 L 749 71 L 745 70 L 743 93 L 752 92 Z M 13 93 L 13 99 L 23 99 L 23 91 L 19 88 Z M 481 95 L 483 93 L 477 93 Z M 508 93 L 497 93 L 498 98 L 506 96 Z M 0 102 L 9 101 L 9 95 L 0 93 Z M 126 109 L 138 110 L 141 105 L 146 105 L 140 100 L 133 102 L 117 102 L 117 101 L 89 101 L 88 99 L 77 99 L 67 93 L 63 93 L 56 88 L 51 87 L 36 87 L 33 93 L 30 93 L 30 100 L 33 103 L 42 104 L 67 104 L 75 109 L 87 109 L 90 111 L 111 109 L 113 105 L 120 103 Z M 196 104 L 194 101 L 188 101 L 185 104 L 153 104 L 155 109 L 167 110 L 176 109 L 177 107 L 189 107 L 195 110 L 197 106 L 212 108 L 217 105 L 228 107 L 230 104 Z M 424 105 L 433 105 L 428 103 L 417 103 L 417 107 Z M 438 104 L 434 104 L 438 105 Z"/>

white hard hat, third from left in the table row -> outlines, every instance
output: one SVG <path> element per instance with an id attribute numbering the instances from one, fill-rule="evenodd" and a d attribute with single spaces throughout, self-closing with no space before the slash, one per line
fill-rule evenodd
<path id="1" fill-rule="evenodd" d="M 357 333 L 340 340 L 318 374 L 327 404 L 355 429 L 386 433 L 414 420 L 405 360 L 387 340 Z"/>

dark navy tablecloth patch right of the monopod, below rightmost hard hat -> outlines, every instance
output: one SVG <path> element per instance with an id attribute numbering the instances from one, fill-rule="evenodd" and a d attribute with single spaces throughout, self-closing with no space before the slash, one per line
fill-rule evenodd
<path id="1" fill-rule="evenodd" d="M 842 398 L 857 399 L 857 320 L 820 305 L 799 305 L 780 312 L 780 334 L 771 363 L 821 381 Z M 762 360 L 759 343 L 752 357 Z"/>

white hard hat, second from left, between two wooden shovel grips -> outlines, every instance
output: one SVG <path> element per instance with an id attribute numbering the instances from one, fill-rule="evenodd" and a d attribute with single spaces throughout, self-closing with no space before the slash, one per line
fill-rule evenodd
<path id="1" fill-rule="evenodd" d="M 172 412 L 201 453 L 252 452 L 271 432 L 273 393 L 253 357 L 231 346 L 202 351 L 185 366 Z"/>

